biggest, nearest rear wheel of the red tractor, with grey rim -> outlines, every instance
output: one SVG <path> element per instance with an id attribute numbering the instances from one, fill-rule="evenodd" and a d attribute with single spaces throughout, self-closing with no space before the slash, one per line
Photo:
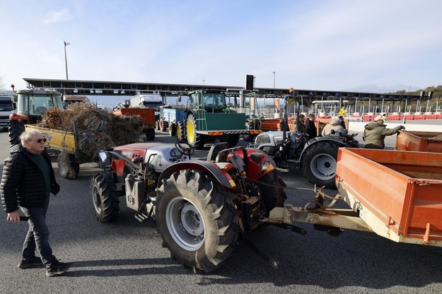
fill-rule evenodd
<path id="1" fill-rule="evenodd" d="M 238 238 L 233 195 L 202 172 L 175 172 L 156 189 L 163 247 L 194 273 L 209 273 L 231 255 Z"/>

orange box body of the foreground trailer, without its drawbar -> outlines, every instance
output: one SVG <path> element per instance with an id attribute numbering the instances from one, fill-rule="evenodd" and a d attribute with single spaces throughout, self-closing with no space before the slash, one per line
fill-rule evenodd
<path id="1" fill-rule="evenodd" d="M 339 148 L 336 182 L 373 232 L 442 246 L 442 154 Z"/>

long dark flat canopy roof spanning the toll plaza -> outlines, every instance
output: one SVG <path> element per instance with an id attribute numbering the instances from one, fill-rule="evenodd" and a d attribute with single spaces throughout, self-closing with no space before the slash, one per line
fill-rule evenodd
<path id="1" fill-rule="evenodd" d="M 225 90 L 238 92 L 243 90 L 241 86 L 214 86 L 214 85 L 192 85 L 175 83 L 136 83 L 121 81 L 83 81 L 83 80 L 57 80 L 47 78 L 23 78 L 30 89 L 52 89 L 59 90 L 66 95 L 136 95 L 141 93 L 158 93 L 161 95 L 185 95 L 192 90 Z M 298 97 L 309 99 L 340 99 L 348 100 L 423 100 L 422 95 L 409 94 L 379 94 L 363 92 L 346 92 L 331 90 L 298 90 L 294 89 L 293 94 L 289 89 L 281 88 L 255 88 L 260 98 L 282 98 Z"/>

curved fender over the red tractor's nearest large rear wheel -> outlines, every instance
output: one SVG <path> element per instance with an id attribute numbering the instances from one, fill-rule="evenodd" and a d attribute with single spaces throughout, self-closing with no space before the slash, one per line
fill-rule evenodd
<path id="1" fill-rule="evenodd" d="M 204 173 L 208 173 L 227 191 L 231 191 L 236 187 L 231 176 L 224 170 L 221 170 L 215 163 L 206 160 L 194 160 L 175 163 L 163 170 L 158 178 L 157 188 L 163 185 L 163 180 L 167 180 L 174 172 L 179 172 L 180 170 L 201 170 Z"/>

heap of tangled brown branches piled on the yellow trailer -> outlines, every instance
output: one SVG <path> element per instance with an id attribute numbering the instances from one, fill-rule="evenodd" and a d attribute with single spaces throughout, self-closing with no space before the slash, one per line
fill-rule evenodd
<path id="1" fill-rule="evenodd" d="M 78 148 L 91 157 L 106 148 L 139 142 L 143 134 L 141 117 L 117 116 L 89 103 L 74 103 L 66 110 L 52 108 L 38 125 L 73 132 L 74 124 Z"/>

